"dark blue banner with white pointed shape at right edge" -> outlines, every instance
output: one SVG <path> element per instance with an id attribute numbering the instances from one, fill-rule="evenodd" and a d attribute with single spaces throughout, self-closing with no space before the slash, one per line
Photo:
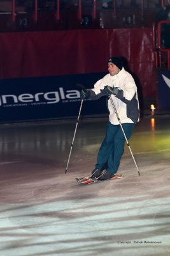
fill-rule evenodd
<path id="1" fill-rule="evenodd" d="M 161 110 L 170 109 L 170 71 L 159 73 L 158 85 L 158 108 Z"/>

